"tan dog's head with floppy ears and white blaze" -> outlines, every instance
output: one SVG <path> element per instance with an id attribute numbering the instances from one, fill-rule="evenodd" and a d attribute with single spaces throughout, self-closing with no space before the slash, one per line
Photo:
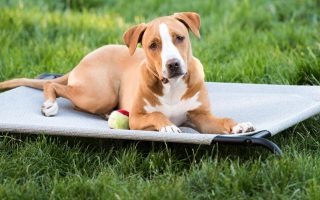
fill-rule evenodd
<path id="1" fill-rule="evenodd" d="M 162 81 L 185 75 L 192 58 L 189 30 L 200 38 L 200 16 L 193 12 L 175 13 L 130 28 L 123 36 L 133 55 L 141 43 L 148 64 Z"/>

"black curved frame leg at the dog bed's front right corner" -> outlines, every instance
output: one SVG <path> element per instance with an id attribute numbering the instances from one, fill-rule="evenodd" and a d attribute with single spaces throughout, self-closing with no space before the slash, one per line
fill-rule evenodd
<path id="1" fill-rule="evenodd" d="M 260 132 L 259 132 L 260 133 Z M 223 136 L 219 135 L 215 137 L 212 141 L 212 143 L 218 143 L 218 144 L 230 144 L 230 145 L 244 145 L 244 146 L 262 146 L 264 148 L 267 148 L 272 153 L 282 157 L 283 153 L 281 149 L 270 140 L 267 140 L 263 137 L 265 137 L 266 132 L 261 132 L 261 135 L 258 135 L 258 137 L 254 136 Z M 260 137 L 259 137 L 260 136 Z"/>

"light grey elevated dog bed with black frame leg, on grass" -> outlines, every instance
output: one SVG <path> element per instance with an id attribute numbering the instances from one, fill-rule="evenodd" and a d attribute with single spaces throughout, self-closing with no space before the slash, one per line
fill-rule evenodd
<path id="1" fill-rule="evenodd" d="M 41 78 L 50 77 L 48 75 Z M 237 135 L 199 134 L 182 128 L 182 134 L 116 130 L 99 116 L 73 109 L 59 98 L 59 114 L 44 117 L 42 91 L 19 87 L 0 93 L 0 131 L 109 139 L 146 140 L 211 145 L 213 143 L 260 145 L 278 154 L 281 150 L 265 137 L 273 136 L 320 113 L 319 86 L 207 83 L 215 115 L 238 122 L 252 122 L 257 131 Z"/>

